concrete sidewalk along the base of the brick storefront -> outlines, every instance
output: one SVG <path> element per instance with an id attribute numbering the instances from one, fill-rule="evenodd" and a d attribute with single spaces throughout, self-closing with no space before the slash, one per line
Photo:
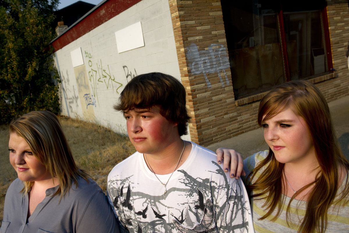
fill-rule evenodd
<path id="1" fill-rule="evenodd" d="M 329 102 L 328 106 L 342 151 L 349 159 L 349 96 Z M 207 146 L 212 151 L 216 151 L 218 147 L 232 148 L 240 152 L 243 158 L 268 150 L 261 128 Z"/>

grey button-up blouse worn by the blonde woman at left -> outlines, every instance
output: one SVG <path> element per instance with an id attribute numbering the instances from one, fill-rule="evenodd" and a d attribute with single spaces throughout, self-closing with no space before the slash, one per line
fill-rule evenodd
<path id="1" fill-rule="evenodd" d="M 28 194 L 20 192 L 18 178 L 7 190 L 0 233 L 35 232 L 119 232 L 116 219 L 102 189 L 93 180 L 80 179 L 61 199 L 52 196 L 57 187 L 46 190 L 46 197 L 27 220 Z"/>

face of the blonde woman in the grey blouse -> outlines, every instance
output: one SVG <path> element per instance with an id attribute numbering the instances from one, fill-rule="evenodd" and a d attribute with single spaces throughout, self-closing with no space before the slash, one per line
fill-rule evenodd
<path id="1" fill-rule="evenodd" d="M 16 133 L 10 133 L 8 148 L 10 163 L 21 181 L 43 181 L 52 178 L 45 166 L 33 155 L 24 138 Z"/>

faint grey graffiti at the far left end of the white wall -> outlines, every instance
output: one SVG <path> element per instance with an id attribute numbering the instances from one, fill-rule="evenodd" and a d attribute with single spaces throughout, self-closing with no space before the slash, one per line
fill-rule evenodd
<path id="1" fill-rule="evenodd" d="M 70 83 L 69 83 L 69 74 L 68 74 L 68 70 L 66 70 L 66 75 L 64 75 L 64 72 L 61 71 L 59 73 L 60 75 L 60 79 L 61 79 L 61 88 L 62 88 L 62 92 L 63 92 L 63 100 L 65 105 L 66 105 L 66 109 L 67 109 L 67 113 L 68 116 L 70 117 L 70 113 L 77 115 L 77 112 L 74 111 L 74 109 L 77 109 L 79 107 L 79 96 L 77 96 L 75 94 L 75 87 L 73 85 L 73 91 L 70 90 Z M 74 107 L 74 108 L 73 108 Z"/>

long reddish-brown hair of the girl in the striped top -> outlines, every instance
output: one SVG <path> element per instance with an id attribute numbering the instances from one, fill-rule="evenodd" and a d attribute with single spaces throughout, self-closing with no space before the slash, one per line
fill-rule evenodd
<path id="1" fill-rule="evenodd" d="M 311 134 L 320 172 L 314 182 L 307 184 L 291 198 L 287 207 L 287 216 L 289 219 L 292 200 L 300 191 L 315 184 L 310 191 L 305 216 L 298 232 L 314 232 L 315 230 L 325 232 L 329 206 L 338 204 L 341 198 L 348 196 L 349 162 L 338 144 L 325 97 L 317 87 L 307 81 L 291 81 L 277 86 L 261 100 L 258 109 L 258 124 L 262 126 L 262 121 L 288 108 L 292 108 L 296 115 L 305 120 Z M 340 185 L 339 165 L 342 165 L 347 172 L 346 185 L 340 194 L 337 193 Z M 255 174 L 265 166 L 267 167 L 261 175 L 252 183 Z M 262 198 L 261 196 L 267 195 L 264 205 L 267 213 L 261 219 L 270 216 L 275 208 L 277 208 L 277 214 L 272 220 L 276 220 L 281 213 L 284 204 L 281 195 L 284 182 L 283 167 L 284 164 L 275 159 L 273 151 L 269 148 L 267 158 L 261 161 L 250 174 L 250 185 L 247 187 L 254 193 L 251 197 Z"/>

